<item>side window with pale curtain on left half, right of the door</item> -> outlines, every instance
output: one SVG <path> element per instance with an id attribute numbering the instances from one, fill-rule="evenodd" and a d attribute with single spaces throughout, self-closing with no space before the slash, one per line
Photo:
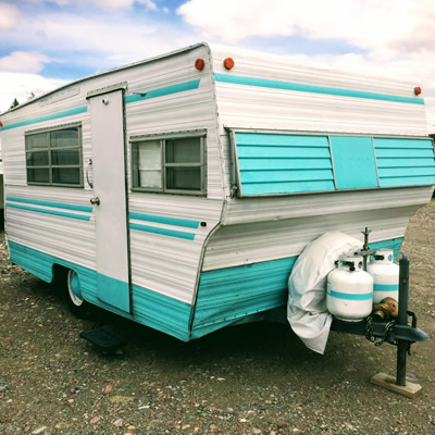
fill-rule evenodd
<path id="1" fill-rule="evenodd" d="M 206 195 L 204 133 L 130 141 L 133 190 Z"/>

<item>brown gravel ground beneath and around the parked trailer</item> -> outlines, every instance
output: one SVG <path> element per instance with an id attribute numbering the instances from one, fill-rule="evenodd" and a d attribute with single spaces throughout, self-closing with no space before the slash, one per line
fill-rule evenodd
<path id="1" fill-rule="evenodd" d="M 412 217 L 410 309 L 435 334 L 435 201 Z M 1 434 L 435 434 L 435 344 L 412 347 L 411 400 L 369 383 L 396 348 L 331 333 L 324 356 L 286 325 L 250 324 L 183 344 L 122 322 L 134 338 L 103 356 L 53 286 L 8 264 L 0 239 Z M 101 314 L 100 314 L 101 315 Z"/>

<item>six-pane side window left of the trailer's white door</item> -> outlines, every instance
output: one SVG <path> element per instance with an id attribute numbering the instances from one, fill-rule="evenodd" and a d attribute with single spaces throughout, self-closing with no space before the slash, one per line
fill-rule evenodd
<path id="1" fill-rule="evenodd" d="M 80 129 L 72 124 L 26 133 L 27 184 L 83 186 Z"/>

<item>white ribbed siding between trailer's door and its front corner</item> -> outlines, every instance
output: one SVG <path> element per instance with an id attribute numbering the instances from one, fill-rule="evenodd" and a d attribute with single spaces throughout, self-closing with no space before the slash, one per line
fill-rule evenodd
<path id="1" fill-rule="evenodd" d="M 198 221 L 206 226 L 185 228 L 176 224 L 147 222 L 147 226 L 156 228 L 154 234 L 130 229 L 132 281 L 135 286 L 192 303 L 201 253 L 208 234 L 221 219 L 224 190 L 208 50 L 206 47 L 199 47 L 178 58 L 177 67 L 166 64 L 166 61 L 174 62 L 175 59 L 172 58 L 151 63 L 150 71 L 147 70 L 137 79 L 129 80 L 130 91 L 157 87 L 156 80 L 160 80 L 160 87 L 196 78 L 201 79 L 199 88 L 126 104 L 127 139 L 147 134 L 207 129 L 207 197 L 132 192 L 129 212 L 132 216 L 134 213 L 140 213 Z M 194 67 L 198 58 L 206 59 L 202 72 Z M 169 73 L 170 71 L 173 72 Z M 129 163 L 130 147 L 127 149 Z M 130 217 L 130 227 L 134 224 L 145 223 Z M 184 232 L 192 237 L 188 239 L 157 234 L 164 232 Z"/>

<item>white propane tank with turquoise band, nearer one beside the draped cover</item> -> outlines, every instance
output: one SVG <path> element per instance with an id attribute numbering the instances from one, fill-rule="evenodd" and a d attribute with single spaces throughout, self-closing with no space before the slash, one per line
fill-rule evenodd
<path id="1" fill-rule="evenodd" d="M 326 307 L 337 319 L 358 322 L 372 312 L 373 277 L 362 270 L 362 257 L 347 257 L 327 275 Z"/>

